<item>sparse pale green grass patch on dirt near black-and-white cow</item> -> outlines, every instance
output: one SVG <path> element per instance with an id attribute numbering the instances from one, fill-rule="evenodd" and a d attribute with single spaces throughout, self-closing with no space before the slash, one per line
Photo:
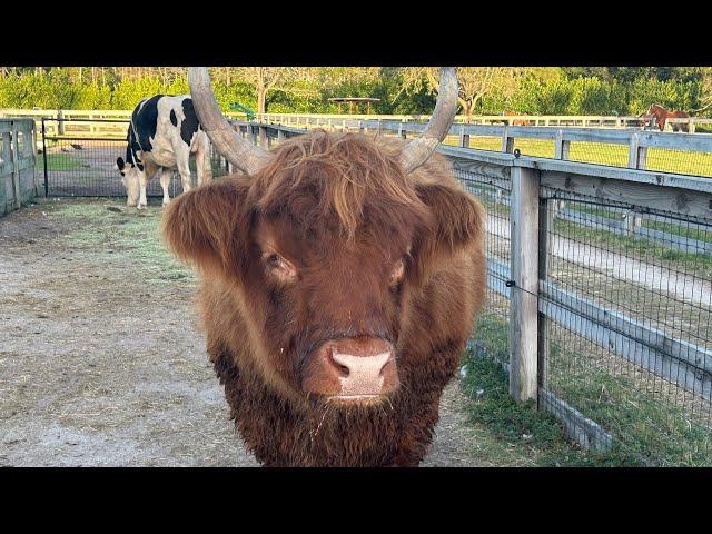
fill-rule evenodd
<path id="1" fill-rule="evenodd" d="M 121 212 L 109 211 L 103 202 L 62 202 L 48 205 L 48 216 L 79 220 L 80 228 L 63 236 L 72 247 L 101 254 L 107 261 L 119 251 L 148 284 L 170 284 L 192 279 L 189 269 L 168 253 L 160 238 L 160 206 L 145 211 L 121 207 Z"/>

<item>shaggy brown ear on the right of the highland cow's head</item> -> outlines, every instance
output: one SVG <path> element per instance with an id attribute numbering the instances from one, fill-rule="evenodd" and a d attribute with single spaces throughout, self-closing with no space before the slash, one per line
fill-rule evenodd
<path id="1" fill-rule="evenodd" d="M 416 233 L 412 248 L 416 277 L 423 281 L 432 267 L 468 247 L 482 247 L 485 210 L 453 182 L 416 184 L 416 192 L 433 217 Z"/>

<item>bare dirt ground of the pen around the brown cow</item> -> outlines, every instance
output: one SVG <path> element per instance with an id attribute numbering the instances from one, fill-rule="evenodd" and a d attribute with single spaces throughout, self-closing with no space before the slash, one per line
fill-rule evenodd
<path id="1" fill-rule="evenodd" d="M 159 218 L 157 206 L 55 199 L 0 219 L 0 465 L 258 465 Z M 483 464 L 463 403 L 451 384 L 423 465 Z"/>

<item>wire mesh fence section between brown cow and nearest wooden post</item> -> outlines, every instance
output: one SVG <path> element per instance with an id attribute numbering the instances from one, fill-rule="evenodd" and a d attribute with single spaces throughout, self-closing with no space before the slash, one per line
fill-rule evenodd
<path id="1" fill-rule="evenodd" d="M 507 179 L 464 170 L 455 164 L 455 176 L 487 211 L 485 250 L 487 258 L 486 301 L 477 316 L 473 344 L 476 353 L 510 360 L 510 191 Z"/>

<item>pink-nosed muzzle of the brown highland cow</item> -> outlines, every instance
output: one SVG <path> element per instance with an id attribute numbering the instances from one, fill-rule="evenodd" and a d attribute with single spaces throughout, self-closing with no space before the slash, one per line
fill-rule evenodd
<path id="1" fill-rule="evenodd" d="M 373 337 L 330 339 L 309 358 L 303 388 L 329 402 L 370 404 L 398 387 L 393 344 Z"/>

